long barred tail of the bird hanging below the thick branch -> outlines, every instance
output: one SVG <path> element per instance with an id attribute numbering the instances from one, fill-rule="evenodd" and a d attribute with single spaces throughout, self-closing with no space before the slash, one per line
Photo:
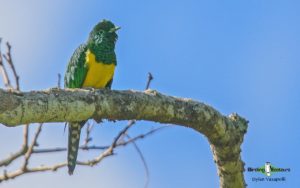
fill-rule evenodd
<path id="1" fill-rule="evenodd" d="M 69 174 L 72 175 L 76 166 L 77 154 L 79 148 L 81 128 L 85 124 L 83 122 L 70 122 L 69 123 L 69 136 L 68 136 L 68 169 Z"/>

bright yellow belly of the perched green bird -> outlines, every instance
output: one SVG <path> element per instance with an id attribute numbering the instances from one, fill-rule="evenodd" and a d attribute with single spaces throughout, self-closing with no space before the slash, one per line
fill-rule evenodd
<path id="1" fill-rule="evenodd" d="M 97 62 L 95 55 L 90 50 L 86 52 L 85 63 L 88 72 L 83 87 L 104 88 L 114 76 L 115 65 Z"/>

